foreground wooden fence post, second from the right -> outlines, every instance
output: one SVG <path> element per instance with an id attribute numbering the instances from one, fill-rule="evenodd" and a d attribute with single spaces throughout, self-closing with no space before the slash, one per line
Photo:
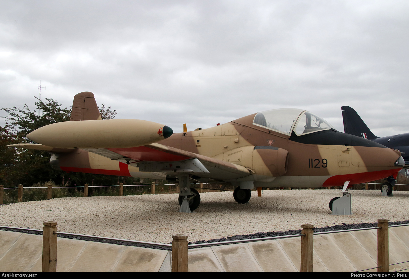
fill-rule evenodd
<path id="1" fill-rule="evenodd" d="M 314 228 L 311 224 L 301 225 L 301 272 L 312 272 L 312 260 L 314 257 Z"/>

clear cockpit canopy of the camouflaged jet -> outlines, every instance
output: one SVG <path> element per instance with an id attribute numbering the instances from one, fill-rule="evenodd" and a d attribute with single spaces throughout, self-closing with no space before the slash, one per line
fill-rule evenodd
<path id="1" fill-rule="evenodd" d="M 300 109 L 272 109 L 257 113 L 253 124 L 279 133 L 297 135 L 334 128 L 321 117 Z"/>

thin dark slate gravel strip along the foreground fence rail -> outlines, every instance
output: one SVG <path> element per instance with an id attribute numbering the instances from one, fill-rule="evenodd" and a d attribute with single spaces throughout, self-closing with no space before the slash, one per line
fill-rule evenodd
<path id="1" fill-rule="evenodd" d="M 409 220 L 389 222 L 389 226 L 402 225 L 402 224 L 409 224 Z M 372 227 L 377 227 L 377 226 L 378 226 L 378 223 L 343 224 L 343 225 L 335 225 L 335 226 L 326 226 L 323 228 L 314 228 L 314 233 L 328 232 L 328 231 L 335 231 L 335 230 L 352 230 L 356 228 L 372 228 Z M 13 230 L 13 229 L 6 229 L 6 228 L 0 228 L 0 230 L 7 230 L 7 231 L 12 231 L 12 232 L 18 232 L 18 233 L 28 233 L 31 235 L 43 235 L 43 233 L 40 233 L 40 232 L 31 232 L 27 230 Z M 261 237 L 276 237 L 276 236 L 282 236 L 282 235 L 299 235 L 299 234 L 301 234 L 301 229 L 300 230 L 286 230 L 285 232 L 267 232 L 267 233 L 252 233 L 249 235 L 234 235 L 231 237 L 222 237 L 219 239 L 189 242 L 189 244 L 200 244 L 200 243 L 211 243 L 211 242 L 221 242 L 221 241 L 230 241 L 230 240 L 254 239 L 254 238 L 261 238 Z M 103 242 L 103 243 L 125 245 L 125 246 L 153 248 L 153 249 L 160 249 L 160 250 L 171 250 L 170 247 L 137 244 L 137 243 L 130 243 L 130 242 L 125 242 L 125 241 L 94 239 L 90 237 L 75 237 L 75 236 L 69 236 L 69 235 L 59 235 L 58 237 L 79 239 L 79 240 L 85 240 L 85 241 Z"/>

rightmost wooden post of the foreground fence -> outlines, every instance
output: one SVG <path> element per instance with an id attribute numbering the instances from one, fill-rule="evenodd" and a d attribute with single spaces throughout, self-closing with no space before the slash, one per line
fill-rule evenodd
<path id="1" fill-rule="evenodd" d="M 378 272 L 389 272 L 389 224 L 378 219 Z"/>

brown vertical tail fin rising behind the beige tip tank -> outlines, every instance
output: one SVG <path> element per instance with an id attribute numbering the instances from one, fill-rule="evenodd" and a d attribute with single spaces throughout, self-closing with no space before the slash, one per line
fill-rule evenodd
<path id="1" fill-rule="evenodd" d="M 70 121 L 101 119 L 94 94 L 91 92 L 81 92 L 74 96 Z"/>

